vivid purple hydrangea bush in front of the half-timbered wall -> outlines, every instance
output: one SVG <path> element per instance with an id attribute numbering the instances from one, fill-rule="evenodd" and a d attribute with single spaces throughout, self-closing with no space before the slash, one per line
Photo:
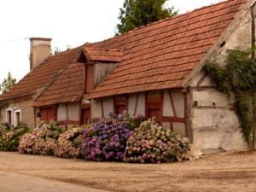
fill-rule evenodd
<path id="1" fill-rule="evenodd" d="M 143 117 L 131 119 L 128 113 L 118 116 L 109 113 L 93 128 L 84 130 L 82 152 L 85 160 L 123 160 L 125 145 L 132 131 L 142 122 Z"/>

